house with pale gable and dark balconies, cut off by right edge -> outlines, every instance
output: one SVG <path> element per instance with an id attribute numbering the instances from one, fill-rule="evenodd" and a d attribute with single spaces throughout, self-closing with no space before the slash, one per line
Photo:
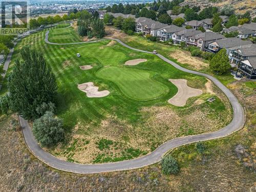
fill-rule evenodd
<path id="1" fill-rule="evenodd" d="M 241 60 L 238 72 L 248 79 L 256 79 L 256 56 L 248 56 L 247 59 Z"/>

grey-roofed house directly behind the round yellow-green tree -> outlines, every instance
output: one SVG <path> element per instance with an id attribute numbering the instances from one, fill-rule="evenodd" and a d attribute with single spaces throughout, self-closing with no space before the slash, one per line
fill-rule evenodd
<path id="1" fill-rule="evenodd" d="M 250 45 L 252 42 L 250 40 L 242 40 L 237 37 L 223 38 L 218 39 L 212 42 L 209 42 L 208 47 L 205 47 L 205 51 L 211 53 L 217 53 L 221 49 L 225 48 L 227 50 L 227 54 L 229 54 L 231 47 L 238 47 L 243 45 Z"/>

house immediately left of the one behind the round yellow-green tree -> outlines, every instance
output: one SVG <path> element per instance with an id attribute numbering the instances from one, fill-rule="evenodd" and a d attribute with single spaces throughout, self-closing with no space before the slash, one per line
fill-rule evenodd
<path id="1" fill-rule="evenodd" d="M 196 46 L 201 51 L 204 51 L 205 48 L 209 46 L 209 42 L 212 40 L 218 40 L 225 38 L 222 34 L 214 33 L 214 32 L 204 32 L 199 33 L 194 36 L 190 36 L 187 38 L 187 45 Z"/>

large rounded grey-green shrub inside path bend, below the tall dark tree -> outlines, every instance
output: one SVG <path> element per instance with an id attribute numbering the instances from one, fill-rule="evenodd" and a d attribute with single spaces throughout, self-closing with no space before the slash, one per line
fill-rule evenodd
<path id="1" fill-rule="evenodd" d="M 34 121 L 32 131 L 42 147 L 51 147 L 64 138 L 62 124 L 62 120 L 55 118 L 52 112 L 46 112 Z"/>

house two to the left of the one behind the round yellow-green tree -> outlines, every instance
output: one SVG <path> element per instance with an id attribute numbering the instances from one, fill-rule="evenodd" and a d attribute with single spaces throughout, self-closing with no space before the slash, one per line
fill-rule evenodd
<path id="1" fill-rule="evenodd" d="M 195 29 L 184 29 L 179 32 L 173 33 L 173 41 L 175 44 L 180 44 L 180 42 L 184 41 L 187 44 L 188 37 L 193 37 L 199 33 L 202 33 L 202 31 L 198 31 Z"/>

